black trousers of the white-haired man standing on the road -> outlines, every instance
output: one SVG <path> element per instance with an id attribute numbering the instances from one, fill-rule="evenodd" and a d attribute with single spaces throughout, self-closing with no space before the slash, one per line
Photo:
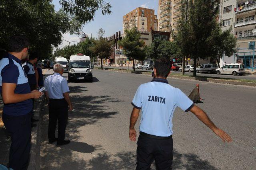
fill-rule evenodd
<path id="1" fill-rule="evenodd" d="M 58 120 L 58 142 L 62 142 L 65 139 L 66 125 L 68 123 L 68 103 L 65 99 L 50 99 L 48 106 L 48 139 L 55 138 L 55 130 Z"/>

